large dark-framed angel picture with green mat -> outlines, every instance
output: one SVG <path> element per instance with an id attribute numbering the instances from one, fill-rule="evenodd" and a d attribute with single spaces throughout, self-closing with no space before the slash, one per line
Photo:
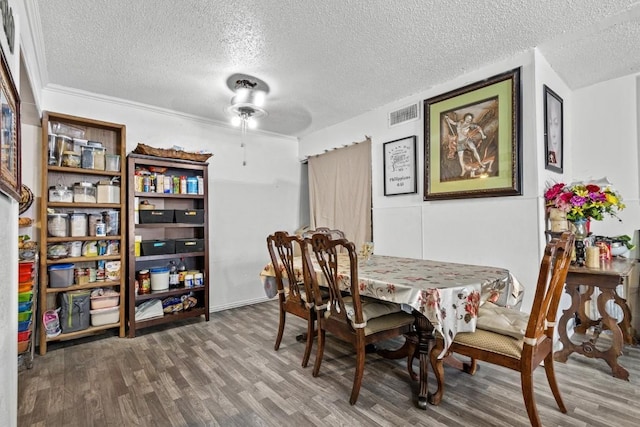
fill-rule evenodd
<path id="1" fill-rule="evenodd" d="M 424 101 L 424 200 L 522 194 L 520 68 Z"/>

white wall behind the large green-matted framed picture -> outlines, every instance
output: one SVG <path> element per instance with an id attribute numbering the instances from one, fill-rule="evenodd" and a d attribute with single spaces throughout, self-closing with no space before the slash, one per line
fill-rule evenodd
<path id="1" fill-rule="evenodd" d="M 375 251 L 384 255 L 439 259 L 509 268 L 523 284 L 535 285 L 540 248 L 538 228 L 538 129 L 536 96 L 542 92 L 535 81 L 533 52 L 443 83 L 428 91 L 384 106 L 302 138 L 301 157 L 325 149 L 372 138 L 373 234 Z M 423 201 L 423 121 L 389 128 L 387 114 L 450 90 L 504 71 L 521 69 L 522 183 L 523 195 L 465 200 Z M 418 192 L 384 196 L 382 144 L 416 135 L 418 140 Z M 543 166 L 544 167 L 544 166 Z M 529 308 L 533 292 L 525 293 L 523 309 Z"/>

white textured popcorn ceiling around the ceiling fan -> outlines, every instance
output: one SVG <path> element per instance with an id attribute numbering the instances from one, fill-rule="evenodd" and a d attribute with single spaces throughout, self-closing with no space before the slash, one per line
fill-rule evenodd
<path id="1" fill-rule="evenodd" d="M 631 0 L 37 0 L 45 85 L 228 122 L 235 73 L 260 129 L 304 136 L 539 47 L 573 89 L 640 72 Z"/>

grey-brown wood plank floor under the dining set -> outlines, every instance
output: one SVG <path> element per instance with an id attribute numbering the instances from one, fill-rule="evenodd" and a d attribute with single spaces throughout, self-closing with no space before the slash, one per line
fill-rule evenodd
<path id="1" fill-rule="evenodd" d="M 312 366 L 300 366 L 304 344 L 295 341 L 305 324 L 287 321 L 277 352 L 275 302 L 213 313 L 209 322 L 143 330 L 133 339 L 54 343 L 18 375 L 18 426 L 529 425 L 519 375 L 483 363 L 475 376 L 447 367 L 443 402 L 422 411 L 403 362 L 367 355 L 360 397 L 351 406 L 351 350 L 329 338 L 313 378 Z M 628 382 L 613 378 L 602 360 L 574 354 L 556 363 L 566 415 L 544 369 L 537 369 L 542 423 L 637 426 L 640 348 L 627 346 L 619 361 Z"/>

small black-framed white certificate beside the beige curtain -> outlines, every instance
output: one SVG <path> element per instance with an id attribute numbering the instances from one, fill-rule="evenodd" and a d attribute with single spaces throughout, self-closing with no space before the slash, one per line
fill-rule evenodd
<path id="1" fill-rule="evenodd" d="M 418 192 L 416 180 L 416 136 L 382 144 L 384 153 L 384 195 Z"/>

